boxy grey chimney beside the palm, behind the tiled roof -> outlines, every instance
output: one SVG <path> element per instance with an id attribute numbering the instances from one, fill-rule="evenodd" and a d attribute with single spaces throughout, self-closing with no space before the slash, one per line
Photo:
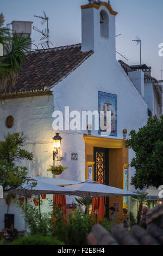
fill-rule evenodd
<path id="1" fill-rule="evenodd" d="M 24 37 L 29 37 L 32 34 L 32 21 L 12 21 L 12 33 L 17 35 L 23 34 Z M 31 49 L 31 45 L 30 45 Z"/>

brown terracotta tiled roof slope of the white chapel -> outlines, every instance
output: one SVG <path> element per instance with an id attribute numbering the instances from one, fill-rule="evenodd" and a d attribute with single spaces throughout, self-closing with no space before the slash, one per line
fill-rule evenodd
<path id="1" fill-rule="evenodd" d="M 85 61 L 93 51 L 82 52 L 81 44 L 27 53 L 11 92 L 52 87 Z M 9 92 L 7 88 L 6 92 Z M 2 92 L 4 93 L 4 92 Z"/>

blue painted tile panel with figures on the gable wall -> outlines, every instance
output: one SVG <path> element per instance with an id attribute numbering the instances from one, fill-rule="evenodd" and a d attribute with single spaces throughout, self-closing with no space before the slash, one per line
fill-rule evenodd
<path id="1" fill-rule="evenodd" d="M 100 111 L 103 111 L 104 116 L 99 117 L 99 134 L 117 136 L 117 95 L 98 92 L 98 111 L 100 116 Z M 111 133 L 106 131 L 106 111 L 111 111 Z M 104 126 L 102 125 L 102 120 L 104 120 Z"/>

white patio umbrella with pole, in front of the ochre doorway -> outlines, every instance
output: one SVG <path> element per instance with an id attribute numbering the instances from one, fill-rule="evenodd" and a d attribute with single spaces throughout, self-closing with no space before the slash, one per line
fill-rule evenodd
<path id="1" fill-rule="evenodd" d="M 130 195 L 138 195 L 120 188 L 110 187 L 107 185 L 99 184 L 96 181 L 86 180 L 78 184 L 67 187 L 74 190 L 72 195 L 85 197 L 87 199 L 87 214 L 89 213 L 89 199 L 96 197 L 128 197 Z"/>

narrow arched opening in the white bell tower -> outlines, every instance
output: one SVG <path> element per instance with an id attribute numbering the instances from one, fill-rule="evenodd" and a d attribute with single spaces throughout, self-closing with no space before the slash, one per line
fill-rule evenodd
<path id="1" fill-rule="evenodd" d="M 100 13 L 100 29 L 101 37 L 109 38 L 109 16 L 104 10 Z"/>

